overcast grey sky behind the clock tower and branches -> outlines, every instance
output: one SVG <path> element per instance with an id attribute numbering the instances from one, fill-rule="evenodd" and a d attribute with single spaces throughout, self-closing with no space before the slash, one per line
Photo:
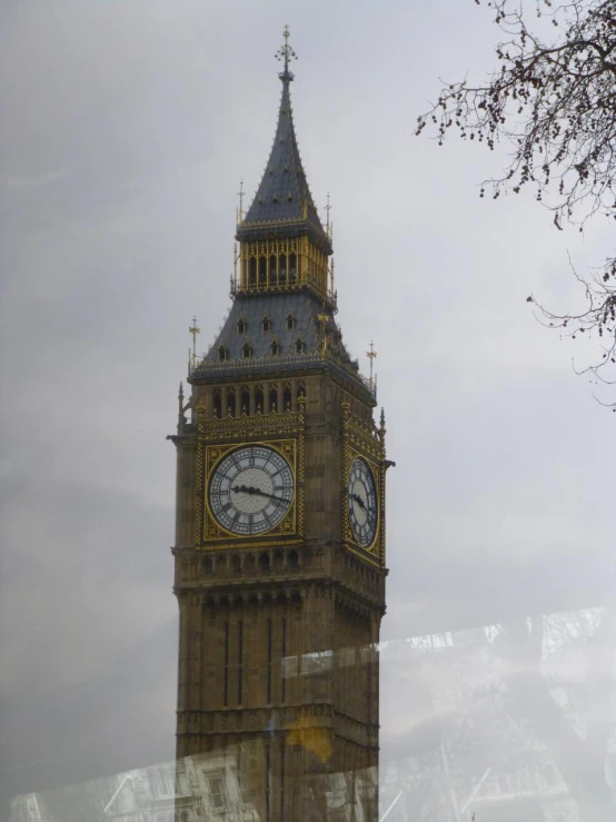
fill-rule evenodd
<path id="1" fill-rule="evenodd" d="M 338 319 L 365 372 L 375 341 L 397 464 L 384 636 L 600 604 L 614 588 L 615 415 L 570 363 L 595 343 L 560 340 L 525 301 L 580 306 L 567 252 L 598 265 L 612 238 L 600 221 L 584 236 L 554 230 L 530 191 L 479 199 L 505 146 L 414 137 L 439 76 L 493 65 L 485 8 L 3 0 L 10 792 L 172 755 L 165 437 L 190 319 L 206 350 L 229 307 L 236 195 L 244 178 L 251 197 L 268 157 L 285 23 L 321 216 L 331 197 Z"/>

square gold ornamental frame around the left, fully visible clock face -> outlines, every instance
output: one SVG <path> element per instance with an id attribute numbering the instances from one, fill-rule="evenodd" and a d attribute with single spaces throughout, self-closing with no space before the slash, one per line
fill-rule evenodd
<path id="1" fill-rule="evenodd" d="M 270 531 L 250 536 L 234 534 L 216 519 L 209 504 L 210 479 L 225 457 L 234 450 L 251 446 L 262 446 L 277 452 L 288 464 L 294 478 L 294 498 L 289 511 Z M 304 440 L 300 437 L 284 439 L 250 439 L 225 444 L 201 443 L 198 453 L 197 472 L 197 521 L 195 543 L 197 547 L 226 548 L 254 547 L 258 543 L 289 544 L 302 536 L 304 517 Z M 294 538 L 295 537 L 295 538 Z M 249 542 L 247 542 L 247 539 Z"/>

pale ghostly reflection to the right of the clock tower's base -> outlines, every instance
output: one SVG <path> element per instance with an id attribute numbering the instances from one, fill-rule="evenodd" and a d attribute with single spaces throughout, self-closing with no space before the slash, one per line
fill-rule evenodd
<path id="1" fill-rule="evenodd" d="M 385 743 L 388 822 L 616 819 L 613 631 L 588 608 L 381 646 L 421 717 Z"/>

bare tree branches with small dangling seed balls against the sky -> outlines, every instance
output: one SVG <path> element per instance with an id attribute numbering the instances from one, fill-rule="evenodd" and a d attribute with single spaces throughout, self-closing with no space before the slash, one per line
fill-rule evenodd
<path id="1" fill-rule="evenodd" d="M 511 0 L 491 0 L 487 6 L 506 38 L 496 46 L 500 69 L 483 85 L 467 78 L 445 85 L 437 102 L 418 118 L 416 133 L 430 126 L 439 146 L 451 129 L 490 150 L 508 142 L 507 172 L 485 180 L 480 197 L 486 189 L 494 199 L 506 190 L 518 194 L 530 184 L 559 230 L 565 222 L 583 230 L 597 215 L 616 219 L 616 3 L 536 0 L 535 30 L 526 21 L 529 2 L 513 8 Z M 547 326 L 567 329 L 574 339 L 595 335 L 600 358 L 578 373 L 615 385 L 616 256 L 587 277 L 575 276 L 585 289 L 585 310 L 558 315 L 533 296 L 528 301 Z M 603 404 L 616 410 L 616 399 Z"/>

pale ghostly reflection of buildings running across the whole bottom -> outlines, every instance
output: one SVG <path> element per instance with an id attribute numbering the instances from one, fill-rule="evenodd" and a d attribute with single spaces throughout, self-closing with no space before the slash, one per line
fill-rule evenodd
<path id="1" fill-rule="evenodd" d="M 304 782 L 301 815 L 286 818 L 367 822 L 375 818 L 380 779 L 381 822 L 610 822 L 613 627 L 607 608 L 589 608 L 370 648 L 387 679 L 401 682 L 399 732 L 384 740 L 378 770 Z M 352 667 L 341 648 L 289 656 L 282 671 L 289 685 L 344 665 Z M 290 749 L 297 742 L 291 734 Z M 310 744 L 307 736 L 302 742 Z M 10 822 L 262 822 L 266 788 L 255 779 L 254 754 L 249 739 L 177 763 L 19 796 Z M 269 790 L 279 801 L 276 783 Z"/>

